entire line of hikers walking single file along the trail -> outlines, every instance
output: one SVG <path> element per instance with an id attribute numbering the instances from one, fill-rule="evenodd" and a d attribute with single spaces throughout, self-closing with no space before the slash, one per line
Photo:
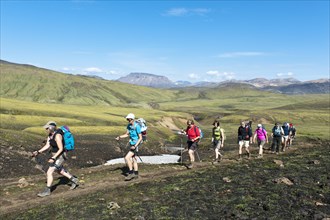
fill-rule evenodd
<path id="1" fill-rule="evenodd" d="M 138 162 L 136 156 L 138 156 L 139 146 L 145 140 L 145 130 L 142 128 L 140 123 L 135 120 L 135 115 L 129 113 L 126 117 L 128 122 L 126 126 L 126 132 L 122 135 L 117 136 L 115 139 L 119 141 L 129 137 L 129 151 L 125 156 L 125 162 L 128 167 L 128 174 L 125 177 L 126 181 L 139 177 Z M 57 171 L 64 177 L 67 177 L 71 182 L 70 189 L 75 189 L 79 186 L 79 179 L 70 174 L 64 169 L 63 163 L 67 159 L 67 150 L 65 146 L 65 133 L 63 129 L 57 127 L 56 122 L 49 121 L 43 128 L 47 131 L 47 140 L 45 145 L 32 153 L 32 156 L 36 157 L 38 154 L 51 150 L 52 156 L 49 158 L 49 168 L 47 170 L 47 184 L 44 191 L 38 193 L 39 197 L 49 196 L 51 194 L 51 186 L 53 183 L 53 173 Z M 61 127 L 62 128 L 62 127 Z M 181 134 L 187 136 L 187 149 L 190 159 L 190 164 L 187 168 L 193 168 L 195 162 L 195 151 L 197 150 L 198 143 L 202 137 L 201 130 L 195 125 L 194 120 L 187 120 L 187 128 L 181 131 Z M 250 158 L 249 144 L 258 142 L 259 146 L 259 156 L 263 156 L 263 147 L 265 143 L 268 143 L 268 135 L 266 129 L 261 125 L 257 125 L 257 129 L 252 135 L 252 121 L 249 123 L 242 121 L 240 127 L 238 128 L 238 145 L 239 145 L 239 159 L 242 159 L 242 148 L 244 146 L 248 157 Z M 271 137 L 273 138 L 273 144 L 271 147 L 272 153 L 279 153 L 280 144 L 282 144 L 282 151 L 285 151 L 292 145 L 292 141 L 296 135 L 296 129 L 293 124 L 284 123 L 280 126 L 279 123 L 275 123 L 272 129 Z M 219 162 L 223 155 L 220 150 L 224 147 L 225 134 L 224 129 L 220 126 L 219 120 L 214 120 L 212 129 L 212 144 L 215 151 L 214 162 Z M 182 159 L 182 158 L 181 158 Z"/>

